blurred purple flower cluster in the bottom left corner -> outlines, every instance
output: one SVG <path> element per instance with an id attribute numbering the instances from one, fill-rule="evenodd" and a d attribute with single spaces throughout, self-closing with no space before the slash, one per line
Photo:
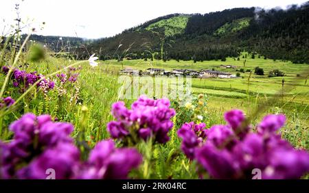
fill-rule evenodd
<path id="1" fill-rule="evenodd" d="M 1 162 L 2 178 L 36 178 L 31 172 L 19 172 L 18 168 L 29 164 L 35 158 L 40 159 L 47 150 L 57 149 L 57 146 L 71 144 L 69 136 L 73 125 L 69 123 L 54 123 L 49 115 L 35 116 L 25 114 L 10 125 L 14 138 L 3 147 Z M 42 163 L 44 164 L 44 163 Z M 28 167 L 24 170 L 30 170 Z"/>

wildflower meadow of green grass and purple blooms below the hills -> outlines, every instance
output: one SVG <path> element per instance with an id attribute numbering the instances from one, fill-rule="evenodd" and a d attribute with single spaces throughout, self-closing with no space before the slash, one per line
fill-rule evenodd
<path id="1" fill-rule="evenodd" d="M 0 37 L 0 179 L 308 179 L 306 64 L 286 82 L 262 79 L 279 89 L 255 87 L 249 71 L 204 88 L 194 74 L 156 71 L 172 62 L 102 60 L 87 46 L 76 58 L 35 31 Z M 124 70 L 148 64 L 148 75 Z M 201 73 L 229 76 L 217 71 Z"/>

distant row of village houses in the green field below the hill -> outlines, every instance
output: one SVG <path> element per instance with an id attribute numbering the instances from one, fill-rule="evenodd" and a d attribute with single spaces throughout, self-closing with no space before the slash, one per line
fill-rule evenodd
<path id="1" fill-rule="evenodd" d="M 220 68 L 236 68 L 236 66 L 231 65 L 220 65 Z M 124 68 L 123 70 L 119 71 L 122 75 L 187 75 L 192 77 L 200 77 L 200 78 L 234 78 L 236 75 L 232 75 L 231 73 L 221 72 L 219 70 L 191 70 L 191 69 L 172 69 L 167 71 L 163 68 L 148 68 L 146 71 L 136 70 L 133 68 Z"/>

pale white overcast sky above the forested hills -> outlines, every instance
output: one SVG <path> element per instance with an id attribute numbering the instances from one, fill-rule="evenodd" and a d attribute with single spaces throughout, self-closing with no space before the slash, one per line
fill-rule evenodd
<path id="1" fill-rule="evenodd" d="M 304 2 L 306 0 L 1 0 L 0 33 L 5 25 L 7 30 L 9 24 L 14 24 L 15 3 L 20 3 L 22 20 L 36 27 L 36 34 L 103 38 L 166 14 L 205 14 L 252 6 L 286 8 Z M 45 27 L 40 30 L 43 22 Z"/>

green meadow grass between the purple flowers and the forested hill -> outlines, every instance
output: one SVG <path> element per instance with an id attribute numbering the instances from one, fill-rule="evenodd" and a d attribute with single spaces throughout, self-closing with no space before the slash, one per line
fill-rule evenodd
<path id="1" fill-rule="evenodd" d="M 309 116 L 309 87 L 306 83 L 307 77 L 302 76 L 308 65 L 292 64 L 290 62 L 264 60 L 262 58 L 246 59 L 244 66 L 242 57 L 240 61 L 227 58 L 226 62 L 220 61 L 180 61 L 174 60 L 163 62 L 159 60 L 117 60 L 99 61 L 95 68 L 89 66 L 88 61 L 74 61 L 67 58 L 47 57 L 40 62 L 31 62 L 27 55 L 21 55 L 19 68 L 30 72 L 39 72 L 43 75 L 51 75 L 50 79 L 55 82 L 55 88 L 43 93 L 40 90 L 28 92 L 20 101 L 9 111 L 1 111 L 0 126 L 1 140 L 10 142 L 12 132 L 8 130 L 9 125 L 19 119 L 23 114 L 32 112 L 36 115 L 49 114 L 54 120 L 72 123 L 74 131 L 72 137 L 78 139 L 80 133 L 84 133 L 84 141 L 89 148 L 101 140 L 110 138 L 106 130 L 106 125 L 114 120 L 111 114 L 111 105 L 119 101 L 119 70 L 122 68 L 135 68 L 146 70 L 146 68 L 189 68 L 194 70 L 212 69 L 229 73 L 237 73 L 235 69 L 220 68 L 220 64 L 231 64 L 238 66 L 237 69 L 244 68 L 251 70 L 251 74 L 241 73 L 241 76 L 233 79 L 192 79 L 192 93 L 194 102 L 192 105 L 196 110 L 180 107 L 177 101 L 171 101 L 172 107 L 176 110 L 176 116 L 172 118 L 174 127 L 170 131 L 170 141 L 162 145 L 149 146 L 149 143 L 137 145 L 137 149 L 145 157 L 139 170 L 131 172 L 133 178 L 143 179 L 197 179 L 195 172 L 195 162 L 191 163 L 180 152 L 181 140 L 177 137 L 177 130 L 185 122 L 196 119 L 196 114 L 203 115 L 203 122 L 207 128 L 211 125 L 224 124 L 223 114 L 227 110 L 240 109 L 248 116 L 258 111 L 252 118 L 253 125 L 260 122 L 262 116 L 266 114 L 276 114 L 282 112 L 286 114 L 287 125 L 282 129 L 282 136 L 297 148 L 309 149 L 308 146 L 308 116 Z M 27 64 L 27 65 L 25 65 Z M 55 72 L 78 73 L 78 81 L 73 83 L 61 84 Z M 256 66 L 264 68 L 265 75 L 254 75 Z M 268 78 L 269 70 L 282 70 L 286 76 Z M 58 74 L 59 74 L 58 73 Z M 297 74 L 300 77 L 297 77 Z M 282 96 L 282 79 L 284 79 L 284 94 Z M 5 75 L 0 74 L 0 87 L 3 86 Z M 63 92 L 65 90 L 65 92 Z M 277 94 L 279 93 L 279 94 Z M 281 93 L 281 94 L 280 94 Z M 198 94 L 205 94 L 203 105 L 197 99 Z M 3 96 L 10 96 L 19 99 L 22 95 L 20 88 L 14 88 L 12 81 L 8 82 Z M 275 99 L 269 104 L 269 99 Z M 126 107 L 136 99 L 124 100 Z M 260 110 L 267 105 L 266 109 Z M 201 107 L 200 107 L 201 106 Z M 259 112 L 260 110 L 260 112 Z M 119 144 L 117 143 L 117 146 Z M 149 164 L 149 162 L 154 164 Z"/>

